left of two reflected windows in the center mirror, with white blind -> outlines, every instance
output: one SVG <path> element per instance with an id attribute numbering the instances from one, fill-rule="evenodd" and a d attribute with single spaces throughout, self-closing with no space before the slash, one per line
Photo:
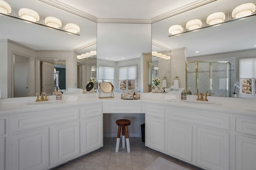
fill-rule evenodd
<path id="1" fill-rule="evenodd" d="M 100 85 L 104 81 L 107 81 L 114 86 L 114 70 L 114 67 L 99 66 L 98 85 Z"/>

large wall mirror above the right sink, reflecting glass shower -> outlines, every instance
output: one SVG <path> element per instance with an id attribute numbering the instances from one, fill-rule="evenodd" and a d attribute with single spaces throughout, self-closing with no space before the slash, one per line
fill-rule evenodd
<path id="1" fill-rule="evenodd" d="M 256 1 L 254 0 L 252 3 L 256 4 Z M 203 28 L 194 32 L 186 32 L 178 36 L 170 36 L 171 34 L 168 33 L 168 29 L 170 26 L 176 24 L 186 25 L 186 22 L 192 19 L 206 19 L 208 15 L 214 12 L 232 12 L 232 10 L 240 4 L 242 4 L 242 2 L 239 0 L 218 0 L 153 23 L 153 51 L 155 46 L 154 44 L 158 44 L 158 46 L 170 49 L 171 55 L 173 55 L 173 51 L 184 48 L 185 61 L 207 61 L 208 63 L 216 61 L 228 61 L 230 65 L 230 75 L 228 77 L 228 82 L 230 82 L 228 85 L 229 94 L 224 96 L 232 97 L 232 92 L 235 90 L 232 85 L 240 81 L 239 59 L 256 57 L 256 42 L 254 40 L 254 36 L 256 35 L 254 30 L 256 27 L 256 22 L 254 22 L 254 20 L 256 19 L 256 16 L 250 16 L 243 20 L 227 22 L 219 26 Z M 158 52 L 161 52 L 161 49 L 158 49 Z M 184 56 L 180 57 L 184 58 Z M 186 65 L 186 62 L 184 62 L 184 65 Z M 175 63 L 172 66 L 175 67 Z M 216 71 L 220 70 L 216 69 L 215 72 Z M 223 75 L 226 77 L 226 74 Z M 186 75 L 183 74 L 183 77 L 186 77 Z M 174 77 L 170 78 L 172 81 Z M 223 83 L 221 83 L 223 78 L 224 77 L 217 77 L 214 85 L 223 85 Z M 204 83 L 205 82 L 200 82 L 200 86 L 204 85 Z M 208 85 L 205 87 L 205 89 L 209 91 L 209 80 L 206 84 Z M 196 79 L 194 79 L 194 85 L 196 85 Z M 186 87 L 186 82 L 182 83 L 182 86 L 184 88 L 188 88 Z M 222 90 L 221 87 L 214 87 L 213 89 L 215 89 L 216 94 Z M 218 91 L 218 89 L 220 90 Z M 236 93 L 238 93 L 238 91 L 239 90 L 236 89 Z M 195 92 L 196 91 L 192 93 Z M 202 93 L 205 93 L 205 91 L 202 91 Z M 214 91 L 212 91 L 212 93 L 214 93 Z M 241 96 L 237 94 L 236 97 Z"/>

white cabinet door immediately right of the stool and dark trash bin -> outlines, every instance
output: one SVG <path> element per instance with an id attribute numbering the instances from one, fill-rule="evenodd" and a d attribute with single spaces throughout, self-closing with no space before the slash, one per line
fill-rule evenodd
<path id="1" fill-rule="evenodd" d="M 164 152 L 165 121 L 146 116 L 146 146 Z"/>

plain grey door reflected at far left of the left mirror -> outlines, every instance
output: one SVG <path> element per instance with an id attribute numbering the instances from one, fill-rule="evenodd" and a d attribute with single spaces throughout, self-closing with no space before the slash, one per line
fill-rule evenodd
<path id="1" fill-rule="evenodd" d="M 14 97 L 28 97 L 28 58 L 14 55 Z"/>

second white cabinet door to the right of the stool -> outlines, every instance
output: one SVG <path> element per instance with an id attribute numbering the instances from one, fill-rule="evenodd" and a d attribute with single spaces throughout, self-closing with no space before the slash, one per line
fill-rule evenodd
<path id="1" fill-rule="evenodd" d="M 192 161 L 192 126 L 168 122 L 168 153 Z"/>

